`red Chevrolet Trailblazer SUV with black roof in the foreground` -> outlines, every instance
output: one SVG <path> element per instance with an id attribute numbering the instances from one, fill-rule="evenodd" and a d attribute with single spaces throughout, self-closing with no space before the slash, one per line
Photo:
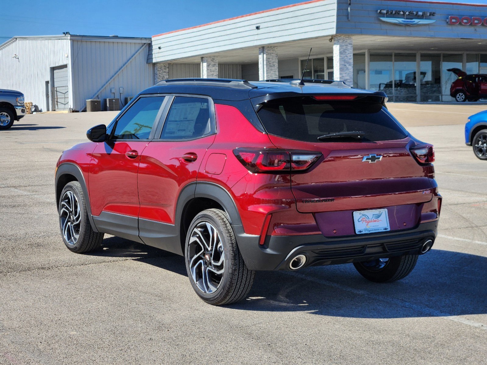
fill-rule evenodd
<path id="1" fill-rule="evenodd" d="M 402 279 L 433 245 L 441 196 L 433 146 L 386 99 L 325 80 L 162 81 L 59 158 L 64 243 L 85 253 L 107 233 L 184 255 L 214 305 L 243 299 L 255 270 Z"/>

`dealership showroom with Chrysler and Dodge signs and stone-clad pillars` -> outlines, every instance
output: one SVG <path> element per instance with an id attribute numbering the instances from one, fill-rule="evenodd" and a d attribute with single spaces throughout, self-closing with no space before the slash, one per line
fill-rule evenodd
<path id="1" fill-rule="evenodd" d="M 394 102 L 450 102 L 457 76 L 448 69 L 487 73 L 487 5 L 313 0 L 159 34 L 151 51 L 156 82 L 304 72 Z"/>

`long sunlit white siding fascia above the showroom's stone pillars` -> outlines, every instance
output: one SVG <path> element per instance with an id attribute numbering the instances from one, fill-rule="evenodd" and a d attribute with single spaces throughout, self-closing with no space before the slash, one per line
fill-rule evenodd
<path id="1" fill-rule="evenodd" d="M 322 0 L 152 37 L 152 62 L 335 34 L 337 0 Z M 255 29 L 260 25 L 259 30 Z M 161 46 L 161 49 L 158 49 Z"/>

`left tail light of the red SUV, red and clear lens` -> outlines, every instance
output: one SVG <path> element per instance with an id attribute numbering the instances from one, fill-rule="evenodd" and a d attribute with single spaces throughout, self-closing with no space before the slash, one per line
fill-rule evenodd
<path id="1" fill-rule="evenodd" d="M 321 156 L 320 152 L 281 148 L 236 148 L 233 154 L 253 173 L 285 173 L 305 171 Z"/>

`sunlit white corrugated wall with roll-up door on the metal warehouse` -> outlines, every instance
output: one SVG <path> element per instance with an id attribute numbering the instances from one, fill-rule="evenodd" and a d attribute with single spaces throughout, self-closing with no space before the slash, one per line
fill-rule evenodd
<path id="1" fill-rule="evenodd" d="M 14 54 L 19 59 L 12 58 Z M 66 54 L 68 38 L 17 39 L 0 49 L 0 87 L 23 92 L 25 101 L 45 111 L 45 82 L 52 81 L 50 68 L 68 63 Z"/>

